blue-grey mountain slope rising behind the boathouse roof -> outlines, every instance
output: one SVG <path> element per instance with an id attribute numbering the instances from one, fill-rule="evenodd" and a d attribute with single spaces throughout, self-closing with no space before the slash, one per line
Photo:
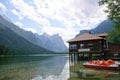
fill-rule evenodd
<path id="1" fill-rule="evenodd" d="M 92 34 L 109 32 L 113 30 L 113 27 L 114 27 L 114 24 L 112 23 L 112 21 L 104 20 L 96 28 L 92 30 L 81 30 L 78 35 L 83 34 L 83 33 L 89 33 L 89 32 Z"/>

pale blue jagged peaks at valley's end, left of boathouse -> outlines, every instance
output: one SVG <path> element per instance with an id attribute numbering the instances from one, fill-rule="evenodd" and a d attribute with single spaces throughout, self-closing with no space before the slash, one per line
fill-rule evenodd
<path id="1" fill-rule="evenodd" d="M 59 34 L 50 36 L 47 33 L 43 33 L 43 35 L 36 36 L 39 38 L 38 44 L 48 50 L 54 52 L 65 52 L 67 50 L 67 47 Z"/>

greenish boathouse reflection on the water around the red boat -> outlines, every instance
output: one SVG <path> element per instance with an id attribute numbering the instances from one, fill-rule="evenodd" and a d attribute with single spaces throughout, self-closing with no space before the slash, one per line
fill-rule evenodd
<path id="1" fill-rule="evenodd" d="M 119 80 L 120 79 L 120 71 L 88 69 L 82 65 L 84 62 L 85 61 L 70 62 L 70 78 L 68 80 Z"/>

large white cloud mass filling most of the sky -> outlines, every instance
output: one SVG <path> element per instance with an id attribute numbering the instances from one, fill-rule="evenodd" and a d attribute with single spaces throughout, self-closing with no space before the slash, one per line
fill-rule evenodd
<path id="1" fill-rule="evenodd" d="M 59 33 L 65 41 L 74 37 L 81 29 L 91 29 L 106 19 L 99 0 L 11 0 L 16 10 L 12 12 L 21 18 L 31 19 L 42 26 L 42 33 Z M 32 5 L 31 5 L 32 3 Z M 63 22 L 65 27 L 51 26 L 49 19 Z M 76 27 L 77 25 L 77 27 Z M 32 27 L 34 28 L 34 27 Z"/>

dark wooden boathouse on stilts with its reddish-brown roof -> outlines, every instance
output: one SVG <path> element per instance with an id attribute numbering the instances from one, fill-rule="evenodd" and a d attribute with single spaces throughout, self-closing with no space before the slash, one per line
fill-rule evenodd
<path id="1" fill-rule="evenodd" d="M 107 33 L 84 33 L 68 41 L 69 58 L 77 60 L 108 59 L 120 56 L 120 45 L 108 43 Z M 97 56 L 98 55 L 98 56 Z"/>

